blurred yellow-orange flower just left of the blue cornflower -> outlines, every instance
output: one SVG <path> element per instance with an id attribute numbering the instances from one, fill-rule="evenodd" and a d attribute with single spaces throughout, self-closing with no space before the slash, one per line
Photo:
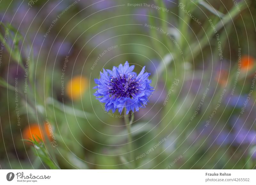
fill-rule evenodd
<path id="1" fill-rule="evenodd" d="M 69 82 L 67 86 L 68 97 L 73 100 L 79 99 L 88 88 L 88 79 L 83 76 L 75 76 Z"/>

